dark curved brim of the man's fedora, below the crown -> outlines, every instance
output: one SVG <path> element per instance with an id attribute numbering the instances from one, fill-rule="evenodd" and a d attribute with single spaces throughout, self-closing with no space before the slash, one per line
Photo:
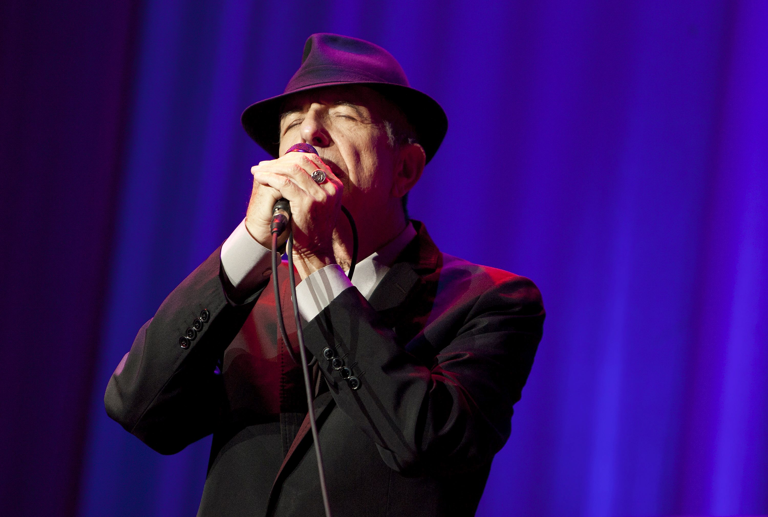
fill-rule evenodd
<path id="1" fill-rule="evenodd" d="M 432 97 L 399 84 L 356 81 L 313 84 L 251 104 L 243 111 L 240 122 L 248 136 L 253 138 L 270 156 L 277 158 L 280 156 L 280 111 L 283 108 L 284 100 L 301 91 L 343 84 L 359 84 L 371 87 L 396 104 L 406 115 L 419 137 L 419 143 L 424 147 L 427 163 L 432 160 L 432 156 L 435 156 L 440 143 L 445 138 L 445 133 L 448 131 L 448 117 L 445 116 L 445 111 L 440 104 Z"/>

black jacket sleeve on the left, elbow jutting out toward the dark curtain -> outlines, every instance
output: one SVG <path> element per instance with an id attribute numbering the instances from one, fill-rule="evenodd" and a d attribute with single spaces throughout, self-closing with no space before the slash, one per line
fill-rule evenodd
<path id="1" fill-rule="evenodd" d="M 220 264 L 217 249 L 168 295 L 104 394 L 108 415 L 159 453 L 177 453 L 213 432 L 224 401 L 217 361 L 266 286 L 235 304 L 225 294 Z M 195 326 L 200 330 L 182 347 Z"/>

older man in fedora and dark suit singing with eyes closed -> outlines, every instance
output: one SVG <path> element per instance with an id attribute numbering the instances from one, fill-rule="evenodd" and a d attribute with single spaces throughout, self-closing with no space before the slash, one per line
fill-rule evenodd
<path id="1" fill-rule="evenodd" d="M 323 515 L 293 318 L 289 343 L 276 327 L 272 282 L 292 311 L 286 265 L 270 275 L 284 198 L 333 513 L 474 515 L 544 309 L 527 278 L 445 255 L 408 219 L 442 108 L 382 48 L 316 34 L 243 127 L 275 159 L 252 168 L 240 226 L 139 331 L 109 415 L 164 454 L 213 433 L 198 515 Z M 297 143 L 318 154 L 286 152 Z M 351 282 L 342 205 L 359 230 Z"/>

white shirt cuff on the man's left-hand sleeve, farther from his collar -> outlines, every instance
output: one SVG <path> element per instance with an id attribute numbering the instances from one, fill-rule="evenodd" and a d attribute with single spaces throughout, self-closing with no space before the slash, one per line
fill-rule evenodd
<path id="1" fill-rule="evenodd" d="M 221 246 L 221 266 L 237 294 L 253 291 L 269 278 L 272 255 L 245 227 L 243 219 Z"/>

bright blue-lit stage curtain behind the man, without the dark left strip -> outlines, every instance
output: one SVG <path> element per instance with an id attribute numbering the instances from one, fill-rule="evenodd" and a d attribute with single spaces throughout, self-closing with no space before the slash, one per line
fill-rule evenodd
<path id="1" fill-rule="evenodd" d="M 210 439 L 160 456 L 106 417 L 104 387 L 243 217 L 266 154 L 240 112 L 283 90 L 317 31 L 388 48 L 445 107 L 412 216 L 443 251 L 544 295 L 545 338 L 478 515 L 768 513 L 766 2 L 154 0 L 137 33 L 80 515 L 197 509 Z M 51 296 L 28 303 L 38 293 Z M 71 338 L 71 320 L 54 321 Z M 38 381 L 77 367 L 25 354 L 12 367 Z"/>

